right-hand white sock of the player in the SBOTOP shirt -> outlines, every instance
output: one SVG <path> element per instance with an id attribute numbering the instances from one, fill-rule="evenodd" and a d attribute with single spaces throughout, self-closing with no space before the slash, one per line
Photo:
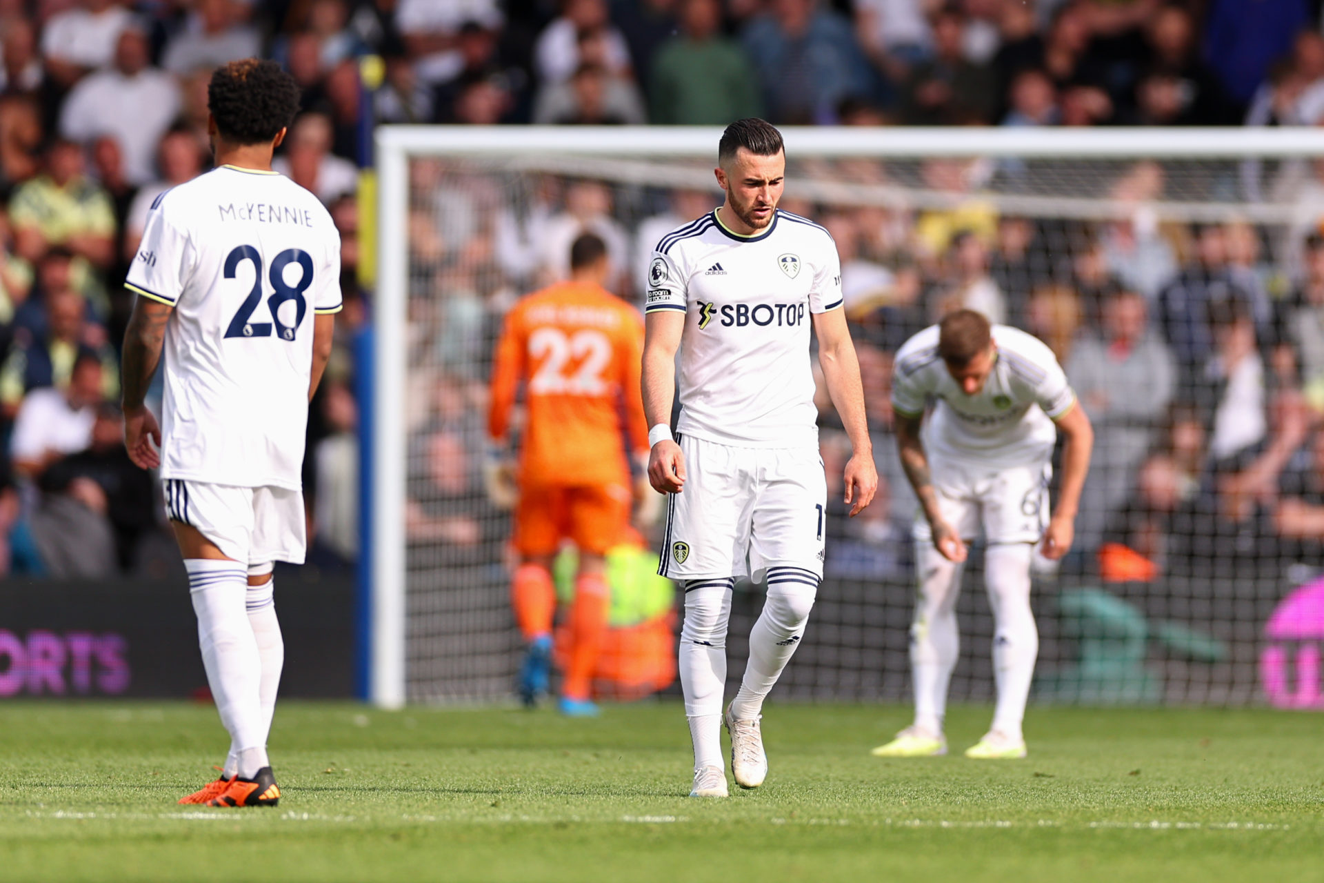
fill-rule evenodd
<path id="1" fill-rule="evenodd" d="M 768 568 L 768 597 L 749 630 L 749 662 L 731 700 L 731 716 L 736 720 L 753 720 L 763 712 L 763 700 L 800 646 L 817 593 L 818 575 L 813 571 Z"/>

